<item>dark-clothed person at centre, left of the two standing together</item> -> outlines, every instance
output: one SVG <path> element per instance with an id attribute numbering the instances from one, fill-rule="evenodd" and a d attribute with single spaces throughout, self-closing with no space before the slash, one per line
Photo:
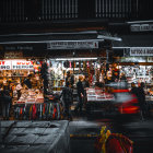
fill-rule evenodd
<path id="1" fill-rule="evenodd" d="M 69 120 L 72 120 L 72 115 L 71 115 L 70 107 L 71 107 L 71 104 L 72 104 L 72 101 L 73 101 L 73 92 L 72 92 L 72 89 L 70 87 L 69 82 L 66 83 L 66 86 L 61 92 L 61 96 L 62 96 L 62 101 L 63 101 L 63 104 L 64 104 L 66 117 Z"/>

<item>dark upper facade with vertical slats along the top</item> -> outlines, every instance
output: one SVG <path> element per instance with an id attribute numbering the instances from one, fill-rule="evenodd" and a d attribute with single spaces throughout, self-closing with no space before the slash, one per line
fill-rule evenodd
<path id="1" fill-rule="evenodd" d="M 1 22 L 150 20 L 152 0 L 1 0 Z"/>

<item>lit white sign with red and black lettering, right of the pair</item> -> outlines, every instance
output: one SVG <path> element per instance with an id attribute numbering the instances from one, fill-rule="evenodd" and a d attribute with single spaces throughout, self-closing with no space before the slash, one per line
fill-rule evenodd
<path id="1" fill-rule="evenodd" d="M 32 61 L 20 61 L 14 60 L 12 61 L 12 69 L 33 69 L 33 62 Z"/>

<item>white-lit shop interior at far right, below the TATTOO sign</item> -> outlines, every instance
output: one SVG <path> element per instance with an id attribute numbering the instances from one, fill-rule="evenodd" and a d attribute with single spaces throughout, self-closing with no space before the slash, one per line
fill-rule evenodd
<path id="1" fill-rule="evenodd" d="M 149 91 L 153 86 L 153 58 L 152 56 L 133 56 L 120 58 L 118 66 L 120 72 L 126 74 L 129 89 L 132 82 L 134 82 L 137 86 L 139 86 L 141 82 L 144 82 L 145 94 L 150 95 Z"/>

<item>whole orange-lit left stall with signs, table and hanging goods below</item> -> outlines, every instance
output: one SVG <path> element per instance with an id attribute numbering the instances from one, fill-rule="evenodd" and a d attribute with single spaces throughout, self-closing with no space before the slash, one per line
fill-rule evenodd
<path id="1" fill-rule="evenodd" d="M 1 90 L 10 91 L 14 119 L 61 119 L 61 104 L 54 93 L 44 93 L 49 90 L 39 61 L 1 60 L 0 70 Z"/>

